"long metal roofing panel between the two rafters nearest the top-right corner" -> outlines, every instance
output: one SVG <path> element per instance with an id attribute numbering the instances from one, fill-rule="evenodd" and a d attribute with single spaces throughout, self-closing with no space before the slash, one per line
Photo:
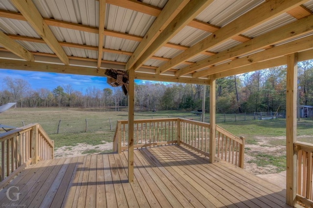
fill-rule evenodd
<path id="1" fill-rule="evenodd" d="M 296 19 L 291 17 L 289 14 L 284 13 L 246 31 L 245 33 L 243 33 L 243 35 L 250 38 L 255 38 L 292 21 L 296 21 Z"/>

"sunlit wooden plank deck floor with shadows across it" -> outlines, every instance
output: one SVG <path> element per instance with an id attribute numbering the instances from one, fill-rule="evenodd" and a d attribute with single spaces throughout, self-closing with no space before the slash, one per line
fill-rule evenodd
<path id="1" fill-rule="evenodd" d="M 41 161 L 0 191 L 0 206 L 288 207 L 282 188 L 182 146 L 134 150 L 134 163 L 129 184 L 127 152 Z"/>

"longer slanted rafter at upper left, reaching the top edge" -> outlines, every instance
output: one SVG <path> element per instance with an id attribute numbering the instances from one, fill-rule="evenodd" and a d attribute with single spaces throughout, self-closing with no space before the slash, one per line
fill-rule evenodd
<path id="1" fill-rule="evenodd" d="M 48 25 L 45 23 L 34 3 L 31 0 L 11 0 L 11 2 L 22 13 L 23 17 L 29 24 L 31 24 L 38 35 L 45 40 L 46 44 L 59 57 L 59 59 L 67 65 L 67 54 L 58 43 Z"/>

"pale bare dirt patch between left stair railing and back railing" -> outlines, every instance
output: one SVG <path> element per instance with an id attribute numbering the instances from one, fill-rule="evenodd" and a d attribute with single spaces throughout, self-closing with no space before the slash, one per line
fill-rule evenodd
<path id="1" fill-rule="evenodd" d="M 105 142 L 101 145 L 87 145 L 84 143 L 77 144 L 76 146 L 62 146 L 54 151 L 54 158 L 76 157 L 88 154 L 99 154 L 112 150 L 113 143 Z"/>

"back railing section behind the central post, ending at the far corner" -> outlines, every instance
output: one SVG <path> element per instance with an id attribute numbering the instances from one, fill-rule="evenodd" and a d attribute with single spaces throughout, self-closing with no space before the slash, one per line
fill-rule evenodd
<path id="1" fill-rule="evenodd" d="M 134 148 L 177 143 L 177 119 L 134 120 Z M 117 121 L 113 151 L 128 146 L 128 121 Z"/>

